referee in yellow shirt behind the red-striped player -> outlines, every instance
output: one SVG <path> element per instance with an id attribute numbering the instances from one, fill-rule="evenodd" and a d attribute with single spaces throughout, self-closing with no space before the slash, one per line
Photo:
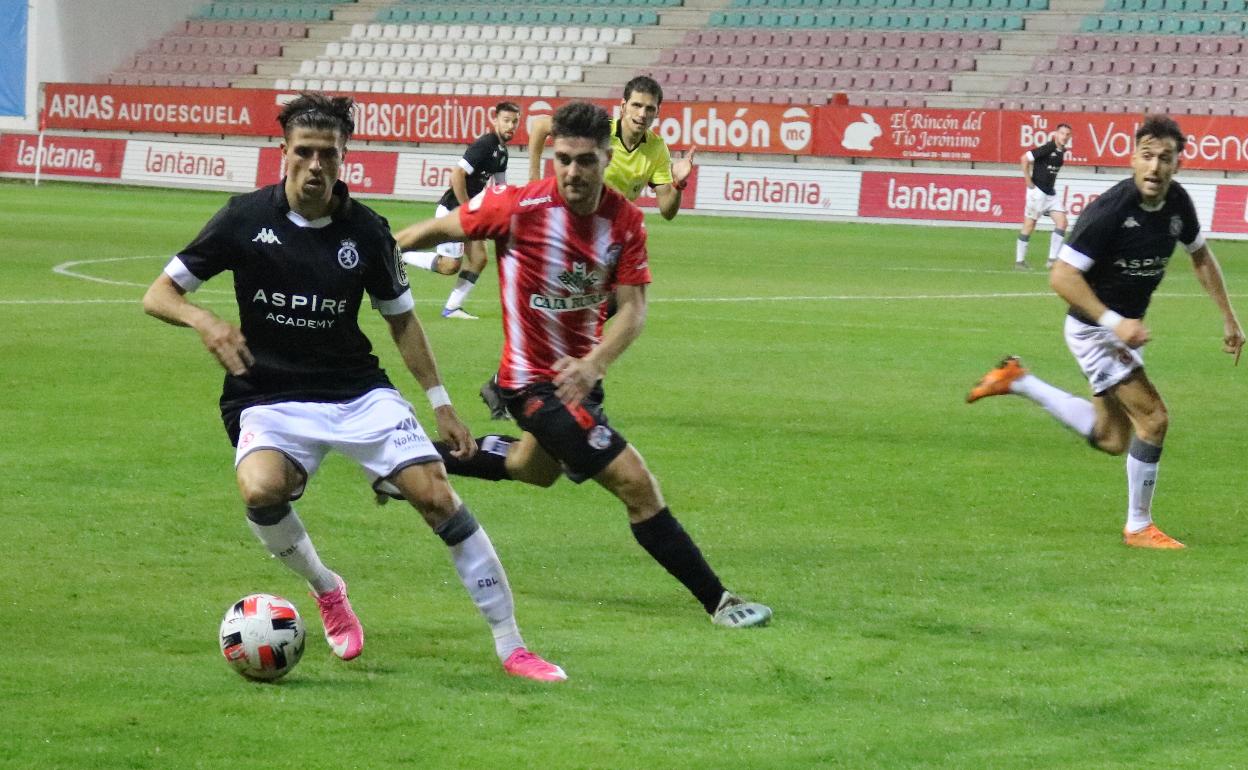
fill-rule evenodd
<path id="1" fill-rule="evenodd" d="M 624 84 L 620 116 L 612 121 L 612 161 L 603 181 L 630 201 L 646 186 L 654 187 L 659 213 L 670 220 L 680 211 L 680 195 L 693 173 L 698 147 L 671 162 L 668 144 L 650 130 L 660 104 L 663 89 L 653 77 L 640 75 Z M 542 178 L 542 149 L 549 136 L 550 116 L 534 119 L 529 126 L 529 180 Z"/>

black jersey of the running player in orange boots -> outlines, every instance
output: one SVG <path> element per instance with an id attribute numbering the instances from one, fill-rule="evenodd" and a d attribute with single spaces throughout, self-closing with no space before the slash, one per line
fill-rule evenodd
<path id="1" fill-rule="evenodd" d="M 1143 318 L 1178 242 L 1188 251 L 1204 242 L 1196 206 L 1182 185 L 1171 182 L 1162 207 L 1147 211 L 1134 180 L 1123 180 L 1083 210 L 1063 255 L 1083 271 L 1097 300 L 1109 309 Z M 1070 314 L 1096 323 L 1073 308 Z"/>

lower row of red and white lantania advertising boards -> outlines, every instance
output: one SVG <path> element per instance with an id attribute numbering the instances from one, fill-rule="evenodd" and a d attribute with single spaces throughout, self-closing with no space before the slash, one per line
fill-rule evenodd
<path id="1" fill-rule="evenodd" d="M 0 173 L 32 176 L 37 137 L 0 135 Z M 146 140 L 44 137 L 42 175 L 162 187 L 243 191 L 276 181 L 273 147 Z M 451 185 L 459 155 L 353 150 L 344 168 L 362 196 L 436 200 Z M 1128 173 L 1058 177 L 1057 195 L 1072 220 Z M 1181 177 L 1182 178 L 1182 177 Z M 1248 185 L 1184 180 L 1201 222 L 1214 236 L 1248 237 Z M 889 168 L 810 168 L 699 163 L 681 207 L 765 217 L 882 218 L 907 223 L 1017 227 L 1025 185 L 1013 171 L 967 173 Z M 653 201 L 653 198 L 651 198 Z M 641 198 L 643 206 L 653 205 Z"/>

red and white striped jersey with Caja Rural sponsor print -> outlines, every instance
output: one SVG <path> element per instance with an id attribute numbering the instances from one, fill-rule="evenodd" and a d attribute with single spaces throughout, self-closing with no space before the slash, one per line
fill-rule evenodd
<path id="1" fill-rule="evenodd" d="M 553 381 L 555 361 L 602 339 L 615 287 L 650 282 L 645 220 L 610 187 L 587 216 L 568 210 L 554 177 L 487 187 L 459 207 L 459 222 L 469 238 L 497 243 L 504 388 Z"/>

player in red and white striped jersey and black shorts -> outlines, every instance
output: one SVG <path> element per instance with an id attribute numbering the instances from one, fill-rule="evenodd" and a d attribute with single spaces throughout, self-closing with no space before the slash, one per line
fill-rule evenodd
<path id="1" fill-rule="evenodd" d="M 594 479 L 628 510 L 638 543 L 723 626 L 763 625 L 771 609 L 724 588 L 671 514 L 641 454 L 603 411 L 608 367 L 641 333 L 650 270 L 640 210 L 603 183 L 610 162 L 610 117 L 572 102 L 552 121 L 553 177 L 492 187 L 457 217 L 398 233 L 403 248 L 454 240 L 497 242 L 503 306 L 498 379 L 524 431 L 508 465 L 535 475 L 563 469 Z M 607 301 L 619 309 L 604 328 Z"/>

